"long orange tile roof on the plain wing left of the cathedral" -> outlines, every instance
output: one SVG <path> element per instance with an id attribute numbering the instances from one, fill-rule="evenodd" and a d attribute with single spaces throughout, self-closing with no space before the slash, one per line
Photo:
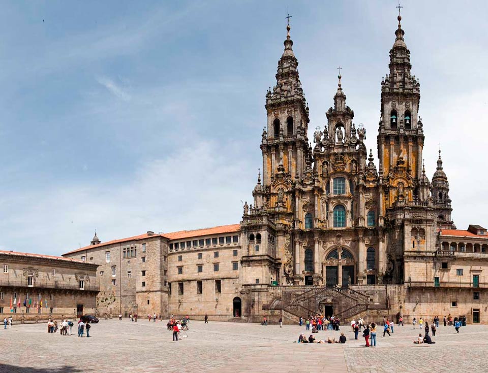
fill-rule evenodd
<path id="1" fill-rule="evenodd" d="M 202 229 L 194 229 L 194 230 L 180 230 L 177 232 L 162 233 L 162 234 L 155 233 L 155 234 L 148 235 L 147 233 L 144 233 L 144 234 L 139 234 L 139 235 L 135 235 L 132 237 L 128 237 L 125 239 L 102 242 L 98 245 L 84 246 L 82 248 L 69 251 L 63 255 L 70 255 L 70 254 L 78 253 L 78 252 L 85 251 L 85 250 L 97 249 L 99 247 L 103 247 L 103 246 L 107 246 L 107 245 L 118 244 L 118 243 L 129 242 L 129 241 L 136 241 L 136 240 L 143 240 L 143 239 L 147 239 L 147 238 L 151 238 L 151 237 L 164 237 L 164 238 L 167 238 L 169 240 L 180 240 L 180 239 L 186 239 L 186 238 L 190 238 L 190 237 L 197 237 L 197 236 L 209 235 L 209 234 L 233 233 L 233 232 L 238 232 L 239 230 L 240 230 L 240 224 L 230 224 L 230 225 L 220 225 L 220 226 L 211 227 L 211 228 L 202 228 Z"/>

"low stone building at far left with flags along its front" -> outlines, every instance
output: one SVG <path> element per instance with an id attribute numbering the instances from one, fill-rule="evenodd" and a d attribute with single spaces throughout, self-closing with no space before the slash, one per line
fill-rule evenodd
<path id="1" fill-rule="evenodd" d="M 58 256 L 0 251 L 0 318 L 76 318 L 94 313 L 97 264 Z M 12 308 L 11 308 L 12 307 Z"/>

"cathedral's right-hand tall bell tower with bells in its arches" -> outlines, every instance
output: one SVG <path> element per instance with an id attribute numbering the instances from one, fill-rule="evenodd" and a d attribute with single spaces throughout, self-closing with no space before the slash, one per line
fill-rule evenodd
<path id="1" fill-rule="evenodd" d="M 410 51 L 398 16 L 390 50 L 389 74 L 381 82 L 381 118 L 378 131 L 380 174 L 385 186 L 384 208 L 418 198 L 422 176 L 424 135 L 418 118 L 420 84 L 411 74 Z"/>

